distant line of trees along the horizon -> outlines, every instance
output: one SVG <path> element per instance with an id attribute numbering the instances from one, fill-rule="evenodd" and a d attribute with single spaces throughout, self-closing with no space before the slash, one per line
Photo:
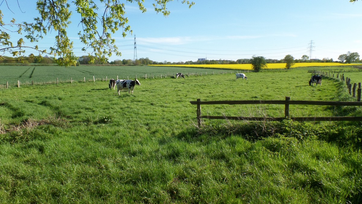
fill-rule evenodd
<path id="1" fill-rule="evenodd" d="M 256 56 L 255 56 L 256 57 Z M 264 58 L 264 57 L 263 57 Z M 14 58 L 14 57 L 3 57 L 0 58 L 0 64 L 57 64 L 56 61 L 60 60 L 52 58 L 52 57 L 21 57 L 21 58 Z M 238 59 L 236 61 L 234 60 L 198 60 L 198 61 L 186 61 L 186 62 L 157 62 L 152 61 L 148 57 L 146 58 L 139 58 L 137 60 L 131 60 L 131 59 L 123 59 L 123 60 L 114 60 L 111 62 L 102 62 L 101 59 L 94 57 L 94 56 L 81 56 L 78 57 L 77 65 L 118 65 L 118 66 L 130 66 L 130 65 L 199 65 L 199 64 L 252 64 L 252 61 L 255 60 L 254 56 L 253 58 L 245 58 L 245 59 Z M 339 61 L 333 61 L 332 58 L 323 58 L 323 59 L 309 59 L 307 55 L 303 55 L 300 59 L 294 59 L 291 55 L 287 55 L 285 58 L 281 60 L 275 60 L 275 59 L 265 59 L 264 61 L 267 64 L 273 64 L 273 63 L 287 63 L 288 65 L 293 65 L 294 63 L 299 62 L 345 62 L 345 63 L 355 63 L 355 62 L 362 62 L 359 59 L 359 54 L 357 52 L 347 52 L 346 54 L 341 54 L 338 57 Z M 290 66 L 288 67 L 290 68 Z"/>

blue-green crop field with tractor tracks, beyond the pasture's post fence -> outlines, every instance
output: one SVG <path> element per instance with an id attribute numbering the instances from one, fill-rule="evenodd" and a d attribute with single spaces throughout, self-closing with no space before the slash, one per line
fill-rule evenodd
<path id="1" fill-rule="evenodd" d="M 193 74 L 203 74 L 209 72 L 225 72 L 225 70 L 217 69 L 197 69 L 197 68 L 177 68 L 177 67 L 153 67 L 153 66 L 0 66 L 0 85 L 5 85 L 9 82 L 11 85 L 16 85 L 19 80 L 22 84 L 34 83 L 55 83 L 58 81 L 93 81 L 93 76 L 96 80 L 114 78 L 134 79 L 138 78 L 160 78 L 170 77 L 173 74 L 183 72 Z"/>

